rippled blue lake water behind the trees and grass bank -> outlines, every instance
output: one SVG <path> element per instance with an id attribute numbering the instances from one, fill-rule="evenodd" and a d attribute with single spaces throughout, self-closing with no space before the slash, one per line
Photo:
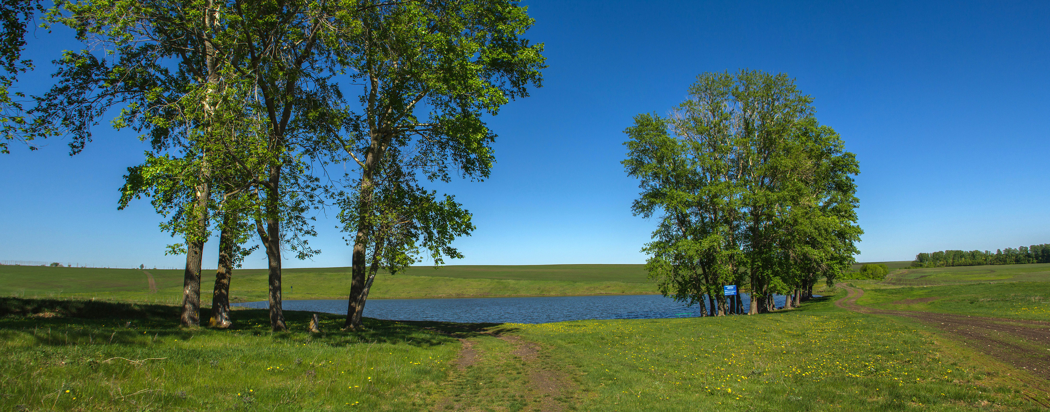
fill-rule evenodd
<path id="1" fill-rule="evenodd" d="M 743 307 L 750 304 L 741 296 Z M 784 297 L 776 296 L 777 307 Z M 257 309 L 269 303 L 235 303 Z M 307 310 L 346 315 L 346 300 L 284 301 L 286 310 Z M 659 295 L 563 296 L 536 298 L 460 298 L 460 299 L 370 299 L 364 305 L 368 318 L 395 321 L 441 321 L 464 323 L 548 323 L 583 319 L 657 319 L 700 316 L 700 308 L 690 307 Z"/>

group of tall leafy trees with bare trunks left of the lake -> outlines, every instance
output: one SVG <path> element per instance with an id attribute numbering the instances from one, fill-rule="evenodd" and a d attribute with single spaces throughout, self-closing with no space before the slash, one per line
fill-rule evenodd
<path id="1" fill-rule="evenodd" d="M 496 134 L 483 116 L 528 95 L 545 67 L 511 0 L 57 1 L 44 21 L 89 47 L 55 62 L 57 84 L 6 122 L 5 142 L 68 136 L 76 154 L 120 110 L 112 124 L 151 148 L 120 208 L 149 197 L 182 239 L 169 253 L 186 255 L 186 326 L 201 322 L 214 232 L 215 327 L 230 324 L 232 269 L 257 237 L 271 326 L 286 328 L 281 263 L 319 253 L 312 210 L 337 207 L 351 234 L 348 328 L 380 269 L 460 257 L 450 243 L 470 214 L 424 183 L 486 178 Z"/>

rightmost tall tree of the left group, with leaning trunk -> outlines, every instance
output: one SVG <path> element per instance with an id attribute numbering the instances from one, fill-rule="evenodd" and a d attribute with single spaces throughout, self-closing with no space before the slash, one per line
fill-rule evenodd
<path id="1" fill-rule="evenodd" d="M 516 1 L 353 4 L 354 28 L 341 31 L 337 49 L 342 70 L 362 89 L 360 112 L 344 117 L 340 136 L 357 165 L 340 200 L 354 245 L 349 328 L 360 326 L 370 264 L 372 274 L 397 272 L 420 247 L 435 264 L 459 257 L 449 243 L 472 230 L 469 214 L 416 178 L 487 177 L 496 134 L 482 116 L 528 95 L 544 67 L 543 45 L 520 38 L 533 20 Z"/>

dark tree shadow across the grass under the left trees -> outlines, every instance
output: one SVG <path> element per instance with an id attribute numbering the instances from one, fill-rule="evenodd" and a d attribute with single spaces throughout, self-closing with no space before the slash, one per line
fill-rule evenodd
<path id="1" fill-rule="evenodd" d="M 317 313 L 321 332 L 309 331 L 314 312 L 286 310 L 288 330 L 270 330 L 267 309 L 236 309 L 233 326 L 184 328 L 178 323 L 180 306 L 130 302 L 69 299 L 0 298 L 0 333 L 33 330 L 40 345 L 65 346 L 98 343 L 150 345 L 160 339 L 209 339 L 259 337 L 278 342 L 318 343 L 333 347 L 354 344 L 405 344 L 429 347 L 480 334 L 499 335 L 517 329 L 500 328 L 499 323 L 456 323 L 433 321 L 391 321 L 364 318 L 358 330 L 341 330 L 344 316 Z M 203 308 L 206 325 L 210 308 Z M 45 332 L 46 330 L 46 332 Z M 100 333 L 103 333 L 101 335 Z M 100 338 L 100 335 L 102 338 Z M 225 339 L 225 338 L 220 338 Z"/>

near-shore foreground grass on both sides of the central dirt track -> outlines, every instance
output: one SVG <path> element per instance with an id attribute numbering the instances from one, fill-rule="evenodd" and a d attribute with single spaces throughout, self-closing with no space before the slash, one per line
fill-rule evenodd
<path id="1" fill-rule="evenodd" d="M 231 331 L 180 329 L 163 305 L 85 302 L 124 305 L 78 309 L 88 318 L 22 310 L 0 318 L 0 409 L 542 410 L 527 396 L 532 368 L 562 373 L 561 399 L 587 411 L 1043 410 L 1021 393 L 1038 377 L 821 294 L 752 317 L 489 328 L 539 343 L 531 366 L 506 341 L 459 329 L 478 352 L 464 370 L 447 365 L 460 341 L 424 328 L 450 324 L 369 320 L 353 333 L 332 331 L 341 319 L 324 315 L 330 331 L 311 335 L 307 313 L 291 311 L 293 331 L 271 333 L 259 310 L 239 311 L 251 321 Z"/>

